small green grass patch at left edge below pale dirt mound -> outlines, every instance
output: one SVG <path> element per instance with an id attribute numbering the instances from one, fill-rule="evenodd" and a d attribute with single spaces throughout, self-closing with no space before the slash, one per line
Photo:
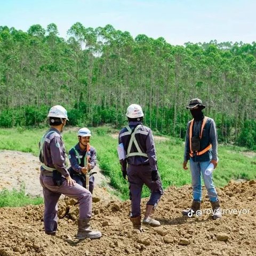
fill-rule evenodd
<path id="1" fill-rule="evenodd" d="M 20 190 L 3 189 L 2 191 L 0 191 L 0 207 L 19 207 L 28 204 L 38 205 L 42 203 L 42 197 L 31 198 L 30 196 L 26 195 L 24 187 L 21 187 Z"/>

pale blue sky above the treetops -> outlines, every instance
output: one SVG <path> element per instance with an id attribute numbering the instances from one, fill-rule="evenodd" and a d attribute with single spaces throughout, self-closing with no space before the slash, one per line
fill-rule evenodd
<path id="1" fill-rule="evenodd" d="M 55 23 L 59 36 L 76 22 L 184 43 L 256 41 L 255 0 L 0 0 L 0 26 L 27 31 Z"/>

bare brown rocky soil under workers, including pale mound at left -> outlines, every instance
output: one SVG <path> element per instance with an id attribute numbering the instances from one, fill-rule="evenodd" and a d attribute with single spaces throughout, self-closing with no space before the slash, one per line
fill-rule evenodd
<path id="1" fill-rule="evenodd" d="M 12 154 L 18 159 L 11 161 Z M 27 182 L 27 179 L 28 184 L 32 186 L 33 183 L 34 187 L 39 163 L 36 157 L 28 155 L 13 151 L 0 152 L 1 189 L 13 184 L 18 186 L 18 182 Z M 3 174 L 6 169 L 9 175 Z M 28 170 L 29 173 L 25 174 Z M 11 179 L 13 172 L 16 175 Z M 28 177 L 22 180 L 24 175 Z M 34 188 L 31 191 L 29 188 L 28 193 L 33 195 Z M 35 190 L 40 189 L 37 183 Z M 256 181 L 230 181 L 218 192 L 224 214 L 222 219 L 213 221 L 208 211 L 201 217 L 182 217 L 181 210 L 191 202 L 191 188 L 170 187 L 165 190 L 156 210 L 156 219 L 161 221 L 162 226 L 143 227 L 144 232 L 138 233 L 131 229 L 130 202 L 118 201 L 108 193 L 108 188 L 98 186 L 93 196 L 91 224 L 102 232 L 102 237 L 83 241 L 75 239 L 78 209 L 74 201 L 68 198 L 59 202 L 59 228 L 55 237 L 44 234 L 43 205 L 0 208 L 0 256 L 256 255 Z M 142 210 L 145 204 L 146 199 L 143 199 Z M 67 208 L 69 214 L 63 216 Z M 205 189 L 202 208 L 210 210 Z"/>

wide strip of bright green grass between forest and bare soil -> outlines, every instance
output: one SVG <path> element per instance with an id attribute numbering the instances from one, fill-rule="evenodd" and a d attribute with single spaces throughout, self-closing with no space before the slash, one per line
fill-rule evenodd
<path id="1" fill-rule="evenodd" d="M 46 128 L 47 129 L 47 128 Z M 46 129 L 0 129 L 0 149 L 18 150 L 30 152 L 37 156 L 38 141 Z M 77 143 L 77 129 L 66 127 L 63 132 L 67 152 Z M 129 198 L 129 185 L 122 177 L 116 151 L 117 139 L 111 137 L 111 133 L 117 130 L 108 126 L 92 128 L 91 145 L 97 150 L 99 166 L 105 175 L 110 177 L 110 185 L 121 193 L 122 199 Z M 190 184 L 189 171 L 182 169 L 183 141 L 177 138 L 167 137 L 168 140 L 155 140 L 158 168 L 161 173 L 163 187 L 182 186 Z M 245 156 L 245 148 L 234 146 L 219 146 L 219 164 L 213 172 L 215 185 L 225 186 L 230 179 L 255 179 L 255 157 Z M 142 196 L 148 196 L 148 189 L 143 189 Z"/>

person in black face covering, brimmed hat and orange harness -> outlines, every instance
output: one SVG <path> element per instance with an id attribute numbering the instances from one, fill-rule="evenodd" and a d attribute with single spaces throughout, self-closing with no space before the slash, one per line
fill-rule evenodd
<path id="1" fill-rule="evenodd" d="M 214 165 L 214 168 L 218 164 L 217 131 L 213 119 L 204 116 L 202 112 L 204 108 L 205 106 L 200 99 L 191 99 L 187 107 L 187 109 L 190 109 L 193 119 L 187 125 L 183 169 L 188 169 L 187 162 L 189 160 L 194 200 L 191 208 L 183 210 L 182 214 L 191 217 L 196 211 L 200 210 L 202 201 L 201 176 L 203 176 L 204 185 L 212 205 L 212 217 L 217 219 L 221 218 L 217 191 L 213 184 L 212 173 L 210 175 L 205 174 L 205 170 L 210 163 Z"/>

